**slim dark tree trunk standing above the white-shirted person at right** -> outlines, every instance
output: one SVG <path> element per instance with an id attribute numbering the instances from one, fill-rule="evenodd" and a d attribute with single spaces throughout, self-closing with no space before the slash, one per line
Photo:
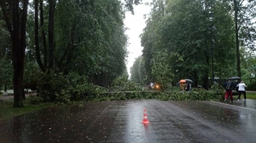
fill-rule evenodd
<path id="1" fill-rule="evenodd" d="M 238 9 L 237 9 L 237 0 L 234 0 L 234 21 L 235 21 L 235 32 L 236 32 L 236 47 L 237 47 L 237 76 L 241 77 L 241 70 L 240 70 L 240 49 L 239 49 L 239 39 L 238 39 Z"/>

